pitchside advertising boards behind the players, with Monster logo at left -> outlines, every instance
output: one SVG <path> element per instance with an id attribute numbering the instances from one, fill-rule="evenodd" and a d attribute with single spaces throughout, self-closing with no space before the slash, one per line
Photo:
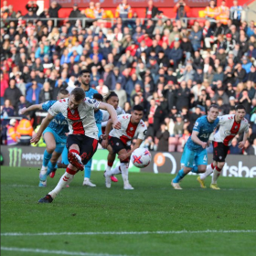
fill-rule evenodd
<path id="1" fill-rule="evenodd" d="M 40 167 L 42 165 L 45 148 L 31 146 L 1 146 L 4 165 L 13 167 Z M 107 166 L 107 150 L 99 149 L 93 155 L 91 169 L 104 171 Z M 130 163 L 130 172 L 170 173 L 176 174 L 180 169 L 181 153 L 151 152 L 152 161 L 143 169 L 136 168 Z M 255 155 L 228 155 L 227 163 L 222 170 L 222 176 L 256 177 Z M 208 163 L 212 162 L 212 155 L 208 155 Z M 113 167 L 119 165 L 116 159 Z M 194 174 L 191 174 L 194 175 Z"/>

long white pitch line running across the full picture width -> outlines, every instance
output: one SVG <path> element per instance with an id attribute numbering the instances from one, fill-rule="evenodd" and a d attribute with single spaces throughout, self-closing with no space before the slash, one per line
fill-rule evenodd
<path id="1" fill-rule="evenodd" d="M 150 234 L 200 234 L 200 233 L 256 233 L 256 230 L 172 230 L 172 231 L 107 231 L 107 232 L 51 232 L 51 233 L 1 233 L 5 237 L 19 236 L 96 236 L 96 235 L 150 235 Z"/>

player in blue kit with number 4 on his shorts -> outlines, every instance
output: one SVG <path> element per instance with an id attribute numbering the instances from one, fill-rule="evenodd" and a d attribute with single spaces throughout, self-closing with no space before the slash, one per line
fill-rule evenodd
<path id="1" fill-rule="evenodd" d="M 179 182 L 192 170 L 196 173 L 204 173 L 208 164 L 208 138 L 219 123 L 219 106 L 213 104 L 208 109 L 208 115 L 197 119 L 191 136 L 187 140 L 182 154 L 182 163 L 184 168 L 179 170 L 176 177 L 172 180 L 172 186 L 175 189 L 182 189 Z M 195 163 L 195 168 L 193 164 Z"/>

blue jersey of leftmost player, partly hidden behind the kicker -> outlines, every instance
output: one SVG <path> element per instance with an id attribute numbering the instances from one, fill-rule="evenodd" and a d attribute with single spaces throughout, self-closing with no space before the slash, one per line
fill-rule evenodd
<path id="1" fill-rule="evenodd" d="M 49 110 L 49 108 L 55 103 L 56 101 L 46 101 L 42 104 L 42 109 L 44 111 Z M 59 113 L 54 117 L 54 119 L 48 124 L 48 127 L 51 128 L 54 132 L 58 133 L 60 137 L 66 137 L 65 133 L 69 133 L 69 124 L 66 118 Z"/>

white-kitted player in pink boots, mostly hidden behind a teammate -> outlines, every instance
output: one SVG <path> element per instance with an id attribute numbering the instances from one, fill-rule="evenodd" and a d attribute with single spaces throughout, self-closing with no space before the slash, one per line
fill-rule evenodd
<path id="1" fill-rule="evenodd" d="M 117 94 L 114 91 L 110 91 L 104 98 L 104 101 L 113 106 L 117 115 L 125 113 L 123 111 L 123 109 L 118 106 L 119 99 L 118 99 Z M 106 112 L 106 111 L 101 111 L 101 112 L 102 112 L 101 132 L 102 132 L 102 136 L 103 136 L 105 134 L 107 123 L 111 117 L 110 117 L 109 112 Z M 100 144 L 101 144 L 101 142 L 102 142 L 102 137 L 99 140 Z M 115 159 L 115 154 L 108 155 L 108 165 L 107 165 L 106 171 L 110 171 L 112 169 L 114 159 Z M 116 176 L 111 176 L 111 179 L 112 179 L 112 182 L 118 182 L 118 179 Z"/>

